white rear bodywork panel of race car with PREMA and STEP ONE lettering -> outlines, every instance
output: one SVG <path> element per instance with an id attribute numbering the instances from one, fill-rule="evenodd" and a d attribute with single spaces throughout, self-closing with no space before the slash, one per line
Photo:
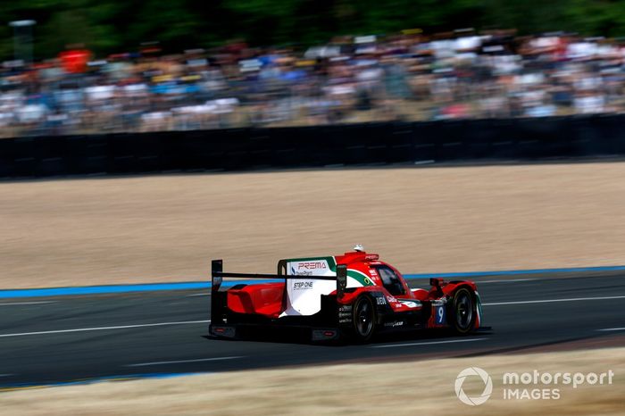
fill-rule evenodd
<path id="1" fill-rule="evenodd" d="M 287 274 L 295 276 L 336 276 L 325 259 L 287 262 Z M 336 280 L 287 279 L 287 309 L 282 316 L 308 316 L 321 311 L 321 295 L 337 290 Z"/>

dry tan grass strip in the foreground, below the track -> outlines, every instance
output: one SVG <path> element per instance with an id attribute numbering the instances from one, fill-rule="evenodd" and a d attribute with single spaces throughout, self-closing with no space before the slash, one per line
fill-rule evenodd
<path id="1" fill-rule="evenodd" d="M 458 373 L 477 366 L 493 380 L 485 404 L 462 404 Z M 612 385 L 557 386 L 560 398 L 504 400 L 505 372 L 612 370 Z M 467 379 L 468 395 L 483 384 Z M 516 388 L 516 387 L 514 387 Z M 555 388 L 531 385 L 522 388 Z M 0 394 L 0 412 L 44 415 L 500 415 L 625 414 L 625 348 L 585 352 L 491 355 L 420 362 L 323 365 L 238 371 L 174 379 L 105 382 Z"/>

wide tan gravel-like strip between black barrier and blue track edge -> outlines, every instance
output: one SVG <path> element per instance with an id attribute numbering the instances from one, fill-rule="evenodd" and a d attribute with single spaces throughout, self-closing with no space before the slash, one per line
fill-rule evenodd
<path id="1" fill-rule="evenodd" d="M 625 264 L 625 163 L 0 183 L 0 287 L 207 279 L 362 243 L 406 273 Z"/>

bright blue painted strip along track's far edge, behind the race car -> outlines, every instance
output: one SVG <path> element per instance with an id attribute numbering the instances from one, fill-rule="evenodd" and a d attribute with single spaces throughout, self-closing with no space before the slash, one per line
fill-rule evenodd
<path id="1" fill-rule="evenodd" d="M 406 279 L 430 279 L 430 278 L 476 278 L 486 276 L 518 276 L 527 274 L 550 274 L 550 273 L 596 273 L 602 271 L 623 271 L 625 266 L 604 267 L 577 267 L 563 269 L 530 269 L 530 270 L 495 270 L 495 271 L 464 271 L 456 273 L 420 273 L 404 274 Z M 235 285 L 250 285 L 254 283 L 270 283 L 279 279 L 253 279 L 253 280 L 226 280 L 222 287 Z M 47 297 L 66 295 L 105 295 L 132 292 L 155 292 L 162 290 L 201 290 L 210 289 L 211 282 L 179 282 L 179 283 L 147 283 L 143 285 L 108 285 L 108 286 L 85 286 L 85 287 L 46 287 L 41 289 L 10 289 L 0 290 L 0 299 L 19 297 Z"/>

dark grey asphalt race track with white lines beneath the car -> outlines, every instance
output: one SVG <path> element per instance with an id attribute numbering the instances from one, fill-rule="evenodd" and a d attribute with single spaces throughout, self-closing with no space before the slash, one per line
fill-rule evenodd
<path id="1" fill-rule="evenodd" d="M 206 290 L 0 299 L 0 390 L 88 379 L 625 346 L 625 274 L 487 276 L 484 325 L 369 345 L 208 337 Z M 410 280 L 428 287 L 427 280 Z"/>

